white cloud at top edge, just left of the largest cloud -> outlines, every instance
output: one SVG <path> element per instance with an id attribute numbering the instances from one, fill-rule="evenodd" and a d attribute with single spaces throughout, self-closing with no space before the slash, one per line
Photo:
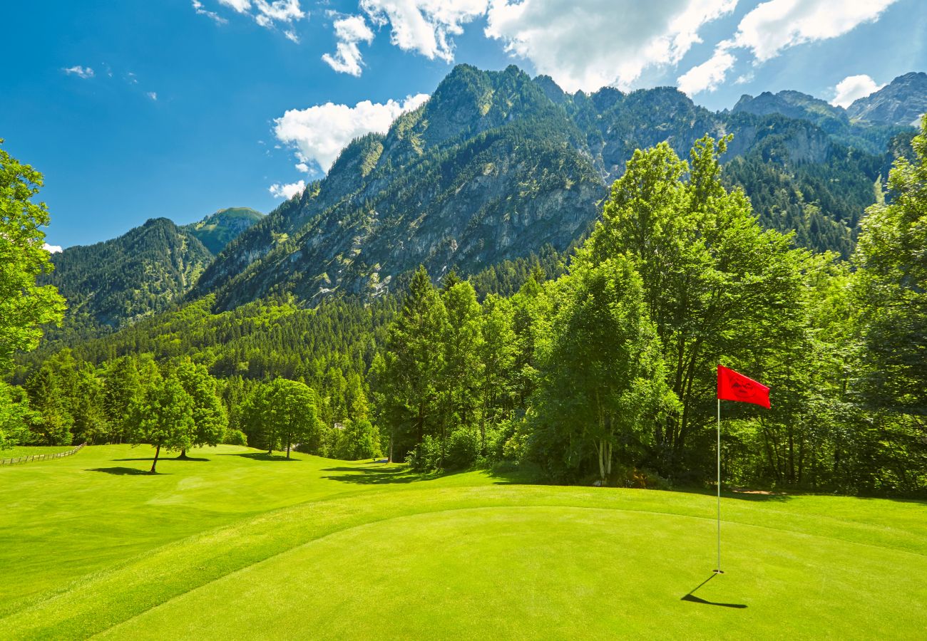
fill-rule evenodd
<path id="1" fill-rule="evenodd" d="M 389 25 L 390 41 L 403 51 L 452 62 L 451 36 L 484 16 L 489 0 L 361 0 L 361 8 L 375 25 Z"/>

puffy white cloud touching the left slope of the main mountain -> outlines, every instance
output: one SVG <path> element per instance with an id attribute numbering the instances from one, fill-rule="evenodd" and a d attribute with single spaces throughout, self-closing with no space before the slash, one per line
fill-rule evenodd
<path id="1" fill-rule="evenodd" d="M 274 119 L 273 133 L 277 140 L 296 149 L 299 162 L 309 167 L 315 162 L 324 171 L 350 141 L 364 133 L 385 133 L 402 112 L 422 105 L 426 94 L 408 96 L 403 102 L 388 100 L 386 104 L 359 102 L 354 107 L 326 103 L 307 109 L 289 109 Z"/>

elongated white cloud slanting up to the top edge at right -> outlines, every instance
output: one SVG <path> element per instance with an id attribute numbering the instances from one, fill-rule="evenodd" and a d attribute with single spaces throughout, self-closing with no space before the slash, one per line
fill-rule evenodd
<path id="1" fill-rule="evenodd" d="M 832 0 L 768 0 L 741 19 L 733 37 L 718 43 L 709 60 L 679 76 L 679 89 L 690 95 L 715 89 L 737 59 L 731 49 L 746 49 L 755 64 L 763 63 L 797 44 L 829 40 L 874 22 L 895 2 L 867 0 L 838 6 Z"/>

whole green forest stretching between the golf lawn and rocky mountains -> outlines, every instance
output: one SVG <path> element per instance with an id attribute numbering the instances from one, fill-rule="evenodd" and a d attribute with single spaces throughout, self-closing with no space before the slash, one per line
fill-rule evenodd
<path id="1" fill-rule="evenodd" d="M 767 384 L 772 403 L 724 404 L 725 483 L 923 496 L 927 119 L 855 246 L 848 227 L 821 227 L 832 220 L 762 225 L 733 185 L 774 177 L 722 165 L 729 143 L 705 136 L 688 160 L 666 143 L 635 151 L 563 254 L 469 278 L 420 267 L 373 301 L 280 294 L 222 310 L 204 295 L 119 332 L 60 334 L 0 384 L 0 443 L 182 456 L 247 443 L 416 471 L 700 485 L 721 364 Z"/>

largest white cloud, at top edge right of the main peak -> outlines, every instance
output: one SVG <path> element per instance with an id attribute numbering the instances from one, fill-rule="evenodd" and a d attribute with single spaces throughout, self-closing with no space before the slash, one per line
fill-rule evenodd
<path id="1" fill-rule="evenodd" d="M 486 35 L 567 91 L 622 89 L 644 69 L 675 65 L 698 31 L 737 0 L 494 0 Z"/>

